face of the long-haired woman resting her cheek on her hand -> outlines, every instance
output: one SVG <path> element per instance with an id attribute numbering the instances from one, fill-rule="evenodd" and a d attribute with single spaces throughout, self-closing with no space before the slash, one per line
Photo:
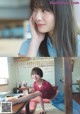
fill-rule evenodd
<path id="1" fill-rule="evenodd" d="M 32 17 L 37 25 L 39 32 L 49 33 L 54 30 L 55 16 L 52 12 L 35 8 Z"/>

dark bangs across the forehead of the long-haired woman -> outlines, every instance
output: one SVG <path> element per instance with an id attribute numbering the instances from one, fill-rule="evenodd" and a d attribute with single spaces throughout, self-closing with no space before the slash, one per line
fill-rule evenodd
<path id="1" fill-rule="evenodd" d="M 52 0 L 31 0 L 30 8 L 33 11 L 35 8 L 45 9 L 54 12 L 54 5 L 51 5 Z M 54 0 L 55 1 L 55 0 Z"/>

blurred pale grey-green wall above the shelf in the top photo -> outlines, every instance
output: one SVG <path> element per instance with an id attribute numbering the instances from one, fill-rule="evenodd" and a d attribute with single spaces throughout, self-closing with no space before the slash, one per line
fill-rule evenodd
<path id="1" fill-rule="evenodd" d="M 0 19 L 28 18 L 29 2 L 29 0 L 0 0 Z"/>

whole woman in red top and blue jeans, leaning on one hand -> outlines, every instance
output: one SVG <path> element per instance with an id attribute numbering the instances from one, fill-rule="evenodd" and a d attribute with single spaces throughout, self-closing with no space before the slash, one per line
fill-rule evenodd
<path id="1" fill-rule="evenodd" d="M 26 100 L 30 100 L 39 96 L 40 103 L 42 106 L 42 114 L 46 113 L 44 109 L 43 98 L 50 99 L 52 105 L 54 105 L 59 110 L 64 111 L 64 93 L 57 90 L 53 90 L 52 85 L 48 81 L 42 79 L 43 71 L 40 68 L 34 67 L 32 69 L 31 75 L 34 81 L 34 93 L 19 98 L 17 100 L 13 100 L 13 104 L 24 102 Z M 80 114 L 80 105 L 74 100 L 73 112 L 74 114 Z"/>

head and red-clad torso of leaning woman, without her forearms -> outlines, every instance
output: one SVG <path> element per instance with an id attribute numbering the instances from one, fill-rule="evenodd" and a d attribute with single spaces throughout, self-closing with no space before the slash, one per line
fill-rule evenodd
<path id="1" fill-rule="evenodd" d="M 32 79 L 34 80 L 34 91 L 39 91 L 42 98 L 51 99 L 55 96 L 56 90 L 53 91 L 53 86 L 46 80 L 42 79 L 43 72 L 40 68 L 35 67 L 32 69 Z"/>

